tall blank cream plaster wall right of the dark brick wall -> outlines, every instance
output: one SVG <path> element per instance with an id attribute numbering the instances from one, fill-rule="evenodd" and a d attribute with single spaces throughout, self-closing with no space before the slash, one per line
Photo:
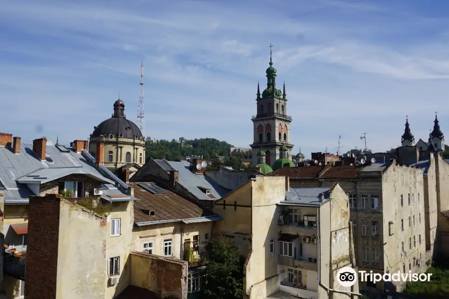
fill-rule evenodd
<path id="1" fill-rule="evenodd" d="M 105 298 L 104 221 L 104 217 L 61 200 L 56 299 Z"/>

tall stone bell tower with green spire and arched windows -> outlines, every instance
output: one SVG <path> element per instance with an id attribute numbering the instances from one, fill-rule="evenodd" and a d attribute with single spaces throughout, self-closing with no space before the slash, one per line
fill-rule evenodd
<path id="1" fill-rule="evenodd" d="M 287 148 L 286 155 L 291 159 L 290 123 L 291 117 L 287 115 L 287 94 L 285 82 L 283 90 L 276 88 L 276 72 L 273 67 L 272 52 L 270 45 L 270 62 L 266 69 L 266 89 L 260 94 L 257 83 L 256 108 L 257 114 L 252 116 L 253 143 L 249 145 L 252 149 L 252 165 L 257 164 L 257 152 L 263 150 L 266 153 L 265 162 L 272 165 L 280 157 L 280 147 Z"/>

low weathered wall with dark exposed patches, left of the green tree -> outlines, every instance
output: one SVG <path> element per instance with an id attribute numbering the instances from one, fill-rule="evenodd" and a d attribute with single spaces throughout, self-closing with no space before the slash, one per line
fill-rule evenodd
<path id="1" fill-rule="evenodd" d="M 152 291 L 156 298 L 187 299 L 186 261 L 132 252 L 130 264 L 131 285 Z"/>

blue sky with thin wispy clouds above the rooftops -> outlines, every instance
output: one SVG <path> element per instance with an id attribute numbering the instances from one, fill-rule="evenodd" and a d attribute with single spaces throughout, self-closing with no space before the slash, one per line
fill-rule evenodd
<path id="1" fill-rule="evenodd" d="M 119 94 L 136 122 L 144 60 L 147 136 L 248 147 L 270 43 L 294 152 L 449 130 L 447 1 L 37 2 L 0 9 L 0 132 L 25 140 L 85 140 Z"/>

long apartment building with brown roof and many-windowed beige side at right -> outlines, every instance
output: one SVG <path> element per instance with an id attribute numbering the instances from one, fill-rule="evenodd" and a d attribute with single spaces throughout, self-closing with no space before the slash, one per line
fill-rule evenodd
<path id="1" fill-rule="evenodd" d="M 424 272 L 427 260 L 423 170 L 400 165 L 395 160 L 385 164 L 334 164 L 337 166 L 329 163 L 319 172 L 315 171 L 315 178 L 295 179 L 294 182 L 320 188 L 338 182 L 348 192 L 359 269 L 380 274 Z M 308 172 L 310 167 L 297 168 L 301 173 L 303 169 Z M 293 168 L 292 171 L 295 173 Z M 282 174 L 285 175 L 285 170 Z M 383 282 L 360 283 L 361 289 L 381 291 L 402 287 Z"/>

